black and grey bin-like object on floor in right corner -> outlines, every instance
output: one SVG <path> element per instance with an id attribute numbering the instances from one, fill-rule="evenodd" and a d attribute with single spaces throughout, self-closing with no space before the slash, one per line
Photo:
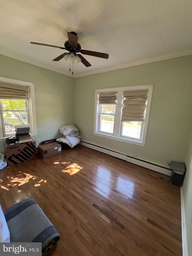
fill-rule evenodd
<path id="1" fill-rule="evenodd" d="M 171 183 L 175 186 L 182 187 L 186 173 L 185 163 L 171 161 L 170 169 L 172 171 Z"/>

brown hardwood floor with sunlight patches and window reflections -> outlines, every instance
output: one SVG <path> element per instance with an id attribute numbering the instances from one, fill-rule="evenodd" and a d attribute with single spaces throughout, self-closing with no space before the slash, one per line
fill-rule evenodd
<path id="1" fill-rule="evenodd" d="M 0 179 L 3 210 L 33 198 L 55 226 L 49 256 L 182 255 L 180 188 L 166 175 L 78 145 Z"/>

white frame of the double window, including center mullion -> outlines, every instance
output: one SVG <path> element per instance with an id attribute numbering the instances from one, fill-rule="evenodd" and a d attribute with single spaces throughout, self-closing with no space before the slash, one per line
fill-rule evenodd
<path id="1" fill-rule="evenodd" d="M 127 91 L 140 91 L 140 90 L 148 90 L 148 97 L 147 97 L 147 105 L 145 110 L 145 120 L 143 122 L 143 127 L 141 128 L 141 136 L 140 140 L 131 138 L 131 137 L 122 137 L 121 131 L 122 131 L 122 122 L 121 122 L 121 113 L 122 113 L 122 107 L 123 107 L 123 92 Z M 112 134 L 106 134 L 99 132 L 98 129 L 98 115 L 99 115 L 99 102 L 98 102 L 98 95 L 101 92 L 117 92 L 117 105 L 116 105 L 116 117 L 114 120 L 114 135 Z M 153 84 L 148 85 L 139 85 L 139 86 L 126 86 L 126 87 L 116 87 L 116 88 L 105 88 L 105 89 L 96 89 L 95 90 L 95 115 L 94 115 L 94 135 L 98 135 L 101 137 L 106 137 L 113 140 L 119 140 L 139 146 L 145 146 L 146 145 L 146 136 L 147 136 L 147 128 L 148 128 L 148 122 L 149 122 L 149 113 L 150 113 L 150 107 L 151 107 L 151 101 L 152 101 L 152 92 L 153 92 Z"/>

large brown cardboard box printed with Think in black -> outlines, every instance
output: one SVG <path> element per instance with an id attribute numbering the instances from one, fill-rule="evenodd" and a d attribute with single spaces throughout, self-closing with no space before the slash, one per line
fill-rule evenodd
<path id="1" fill-rule="evenodd" d="M 26 142 L 22 144 L 16 144 L 10 146 L 7 143 L 5 145 L 5 157 L 8 165 L 19 164 L 36 157 L 36 142 Z"/>

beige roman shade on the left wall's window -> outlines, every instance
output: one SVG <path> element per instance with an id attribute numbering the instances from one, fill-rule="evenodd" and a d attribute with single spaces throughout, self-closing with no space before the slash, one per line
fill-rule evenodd
<path id="1" fill-rule="evenodd" d="M 28 99 L 28 87 L 10 83 L 0 83 L 0 99 Z"/>

